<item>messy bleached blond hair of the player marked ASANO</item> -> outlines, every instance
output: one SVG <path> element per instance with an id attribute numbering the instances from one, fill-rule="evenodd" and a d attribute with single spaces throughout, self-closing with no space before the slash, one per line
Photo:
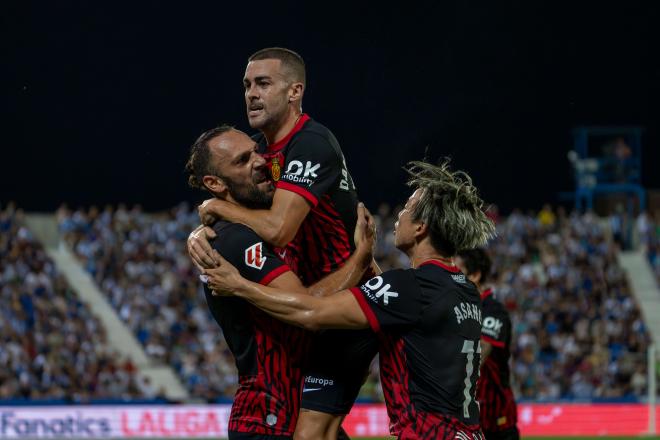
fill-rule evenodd
<path id="1" fill-rule="evenodd" d="M 484 246 L 495 236 L 495 225 L 482 210 L 483 200 L 472 179 L 451 171 L 449 160 L 439 165 L 409 162 L 408 186 L 421 189 L 412 218 L 426 223 L 431 244 L 445 255 Z"/>

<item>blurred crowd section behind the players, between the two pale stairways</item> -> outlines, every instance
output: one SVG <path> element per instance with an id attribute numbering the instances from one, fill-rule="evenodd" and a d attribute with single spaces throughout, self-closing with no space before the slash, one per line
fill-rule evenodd
<path id="1" fill-rule="evenodd" d="M 376 212 L 377 259 L 405 267 L 394 248 L 398 208 Z M 514 322 L 513 383 L 522 398 L 620 398 L 646 386 L 648 343 L 617 247 L 592 214 L 545 206 L 499 218 L 493 284 Z M 191 395 L 235 391 L 234 362 L 211 319 L 185 239 L 198 223 L 185 204 L 165 215 L 139 207 L 58 211 L 60 231 L 146 352 L 172 365 Z M 380 400 L 378 366 L 361 396 Z"/>

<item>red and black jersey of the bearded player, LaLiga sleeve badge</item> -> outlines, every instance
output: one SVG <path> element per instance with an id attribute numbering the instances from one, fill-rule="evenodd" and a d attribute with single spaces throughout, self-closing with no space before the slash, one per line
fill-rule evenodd
<path id="1" fill-rule="evenodd" d="M 291 270 L 250 228 L 219 221 L 213 247 L 241 275 L 268 285 Z M 308 334 L 236 297 L 213 296 L 204 286 L 211 314 L 236 359 L 239 386 L 229 431 L 293 435 L 300 409 Z"/>

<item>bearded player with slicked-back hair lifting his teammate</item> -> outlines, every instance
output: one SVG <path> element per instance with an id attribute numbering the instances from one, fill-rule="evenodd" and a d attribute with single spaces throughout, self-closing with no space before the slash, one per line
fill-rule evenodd
<path id="1" fill-rule="evenodd" d="M 191 186 L 220 200 L 253 209 L 270 207 L 275 188 L 266 161 L 245 133 L 221 126 L 203 133 L 186 165 Z M 264 286 L 322 295 L 357 284 L 370 266 L 373 221 L 358 207 L 356 251 L 336 272 L 303 287 L 298 277 L 254 231 L 240 223 L 218 221 L 214 249 L 241 275 Z M 223 330 L 239 375 L 229 419 L 230 440 L 291 439 L 300 405 L 302 368 L 308 344 L 304 331 L 278 321 L 240 298 L 206 298 Z"/>

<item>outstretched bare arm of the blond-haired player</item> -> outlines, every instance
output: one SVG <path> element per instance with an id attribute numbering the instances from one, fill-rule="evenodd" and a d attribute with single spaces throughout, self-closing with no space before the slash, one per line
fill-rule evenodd
<path id="1" fill-rule="evenodd" d="M 307 330 L 369 327 L 367 317 L 349 290 L 342 290 L 325 298 L 316 298 L 242 279 L 233 293 L 269 315 Z"/>

